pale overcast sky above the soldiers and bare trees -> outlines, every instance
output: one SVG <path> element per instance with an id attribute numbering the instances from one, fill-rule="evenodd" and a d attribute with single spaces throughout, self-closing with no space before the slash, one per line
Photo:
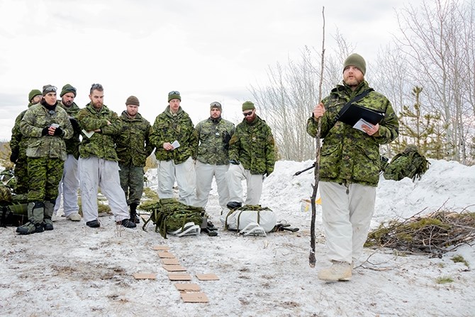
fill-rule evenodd
<path id="1" fill-rule="evenodd" d="M 320 50 L 323 6 L 325 48 L 339 30 L 371 65 L 405 2 L 0 0 L 0 139 L 10 139 L 28 92 L 44 84 L 72 84 L 84 107 L 100 83 L 118 114 L 135 95 L 150 123 L 172 90 L 195 124 L 212 101 L 240 120 L 250 85 L 267 82 L 269 65 L 298 59 L 305 45 Z"/>

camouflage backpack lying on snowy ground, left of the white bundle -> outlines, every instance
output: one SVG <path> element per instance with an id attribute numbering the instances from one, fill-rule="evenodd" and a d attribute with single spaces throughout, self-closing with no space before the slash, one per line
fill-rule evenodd
<path id="1" fill-rule="evenodd" d="M 201 226 L 203 217 L 206 216 L 204 208 L 181 204 L 175 199 L 160 199 L 157 204 L 144 209 L 150 211 L 150 218 L 144 223 L 143 229 L 152 221 L 155 232 L 160 231 L 165 239 L 168 232 L 184 228 L 186 223 L 193 222 Z"/>

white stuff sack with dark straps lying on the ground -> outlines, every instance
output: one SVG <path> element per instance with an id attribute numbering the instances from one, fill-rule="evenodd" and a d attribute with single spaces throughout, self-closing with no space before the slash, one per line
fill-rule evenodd
<path id="1" fill-rule="evenodd" d="M 256 207 L 254 206 L 254 208 Z M 220 217 L 220 221 L 227 230 L 242 230 L 250 223 L 259 223 L 259 226 L 268 233 L 274 229 L 277 223 L 277 216 L 274 211 L 267 207 L 251 210 L 246 209 L 246 206 L 242 206 L 230 211 L 225 209 Z"/>

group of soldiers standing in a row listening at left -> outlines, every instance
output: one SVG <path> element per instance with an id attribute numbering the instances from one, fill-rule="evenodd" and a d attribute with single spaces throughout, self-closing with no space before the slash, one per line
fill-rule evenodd
<path id="1" fill-rule="evenodd" d="M 251 101 L 242 105 L 244 119 L 236 127 L 221 117 L 219 102 L 211 103 L 210 117 L 195 127 L 181 109 L 179 91 L 170 91 L 168 106 L 151 126 L 138 113 L 135 96 L 125 101 L 121 116 L 104 105 L 101 84 L 92 84 L 83 109 L 74 103 L 76 96 L 70 84 L 62 87 L 60 100 L 52 85 L 33 89 L 28 109 L 16 118 L 10 160 L 15 163 L 15 193 L 28 201 L 28 223 L 17 233 L 53 230 L 61 199 L 67 220 L 83 217 L 86 226 L 100 227 L 99 189 L 116 223 L 135 228 L 145 162 L 154 150 L 160 199 L 172 198 L 177 182 L 180 202 L 204 208 L 215 177 L 221 208 L 259 203 L 262 181 L 274 170 L 275 149 L 272 132 Z"/>

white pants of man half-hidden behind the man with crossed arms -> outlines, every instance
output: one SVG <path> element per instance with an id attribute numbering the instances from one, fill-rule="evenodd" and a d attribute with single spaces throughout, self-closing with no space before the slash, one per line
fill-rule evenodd
<path id="1" fill-rule="evenodd" d="M 65 161 L 65 168 L 62 170 L 62 178 L 59 186 L 57 187 L 57 199 L 55 204 L 54 213 L 61 205 L 64 210 L 65 216 L 69 216 L 72 213 L 79 211 L 79 205 L 77 204 L 77 190 L 79 189 L 79 177 L 77 173 L 77 160 L 74 155 L 68 154 Z"/>

